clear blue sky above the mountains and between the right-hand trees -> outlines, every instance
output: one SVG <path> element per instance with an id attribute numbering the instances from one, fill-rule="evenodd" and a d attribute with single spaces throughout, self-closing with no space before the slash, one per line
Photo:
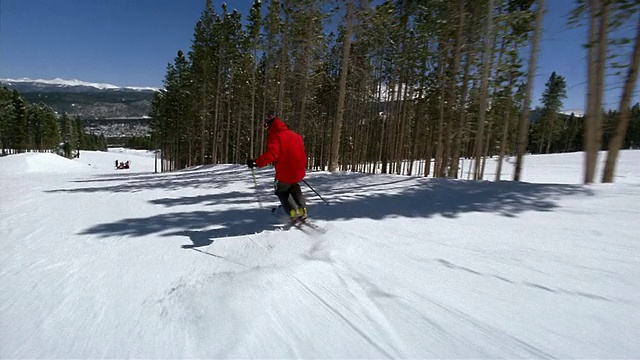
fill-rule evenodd
<path id="1" fill-rule="evenodd" d="M 216 10 L 221 11 L 215 1 Z M 252 0 L 227 0 L 246 17 Z M 0 78 L 78 79 L 162 87 L 167 63 L 187 51 L 205 0 L 0 0 Z M 582 109 L 584 28 L 569 29 L 573 0 L 548 0 L 533 105 L 556 71 L 567 80 L 565 109 Z M 610 79 L 614 83 L 619 81 Z M 619 88 L 606 94 L 617 107 Z M 635 101 L 638 101 L 636 92 Z"/>

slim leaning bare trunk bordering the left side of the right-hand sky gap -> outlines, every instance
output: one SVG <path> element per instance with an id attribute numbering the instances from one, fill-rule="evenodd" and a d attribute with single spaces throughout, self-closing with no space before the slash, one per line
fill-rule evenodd
<path id="1" fill-rule="evenodd" d="M 522 176 L 522 165 L 524 163 L 524 154 L 527 151 L 527 142 L 529 141 L 529 113 L 531 111 L 531 92 L 533 91 L 533 79 L 536 73 L 536 63 L 538 60 L 538 50 L 540 48 L 540 35 L 542 32 L 542 19 L 544 16 L 545 0 L 538 0 L 538 10 L 536 12 L 536 27 L 531 39 L 531 52 L 529 54 L 529 69 L 527 73 L 527 87 L 524 94 L 524 105 L 520 114 L 518 124 L 518 141 L 516 149 L 516 166 L 513 174 L 514 181 L 520 181 Z"/>

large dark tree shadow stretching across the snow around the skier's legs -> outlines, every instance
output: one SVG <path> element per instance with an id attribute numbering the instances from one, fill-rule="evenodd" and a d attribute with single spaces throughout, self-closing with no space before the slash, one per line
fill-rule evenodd
<path id="1" fill-rule="evenodd" d="M 198 176 L 208 179 L 211 176 L 218 177 L 211 173 L 200 173 Z M 204 181 L 198 176 L 190 181 Z M 237 174 L 230 171 L 220 178 L 225 182 L 233 182 L 237 181 Z M 310 173 L 307 181 L 331 203 L 330 206 L 325 205 L 309 188 L 301 185 L 309 202 L 310 216 L 317 221 L 381 220 L 391 217 L 428 219 L 436 215 L 455 218 L 471 212 L 516 217 L 527 211 L 552 211 L 563 197 L 592 195 L 591 190 L 581 185 L 496 183 L 390 175 L 323 172 Z M 276 204 L 271 187 L 264 180 L 262 187 L 259 198 L 256 198 L 251 185 L 246 192 L 151 200 L 153 204 L 168 208 L 200 204 L 211 209 L 122 219 L 96 225 L 82 234 L 100 237 L 181 235 L 192 242 L 185 247 L 193 248 L 207 246 L 216 238 L 259 233 L 283 223 L 271 214 L 271 206 Z M 258 207 L 257 199 L 260 198 L 263 208 Z M 222 206 L 216 208 L 216 205 Z"/>

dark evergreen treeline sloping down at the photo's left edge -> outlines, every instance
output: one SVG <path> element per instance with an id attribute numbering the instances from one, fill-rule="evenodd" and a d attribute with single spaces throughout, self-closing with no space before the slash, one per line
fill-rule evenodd
<path id="1" fill-rule="evenodd" d="M 63 156 L 78 150 L 107 150 L 102 135 L 85 133 L 79 117 L 58 116 L 43 103 L 30 104 L 18 91 L 0 88 L 0 148 L 2 155 L 53 151 Z"/>

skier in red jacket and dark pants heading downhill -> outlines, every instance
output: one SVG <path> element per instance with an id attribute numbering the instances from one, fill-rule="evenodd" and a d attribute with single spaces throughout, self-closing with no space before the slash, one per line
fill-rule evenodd
<path id="1" fill-rule="evenodd" d="M 248 159 L 247 166 L 250 169 L 261 168 L 273 163 L 276 169 L 275 193 L 282 208 L 289 214 L 292 224 L 305 222 L 307 206 L 298 184 L 304 179 L 307 167 L 302 136 L 289 130 L 275 115 L 265 119 L 264 129 L 269 131 L 267 150 L 255 160 Z"/>

